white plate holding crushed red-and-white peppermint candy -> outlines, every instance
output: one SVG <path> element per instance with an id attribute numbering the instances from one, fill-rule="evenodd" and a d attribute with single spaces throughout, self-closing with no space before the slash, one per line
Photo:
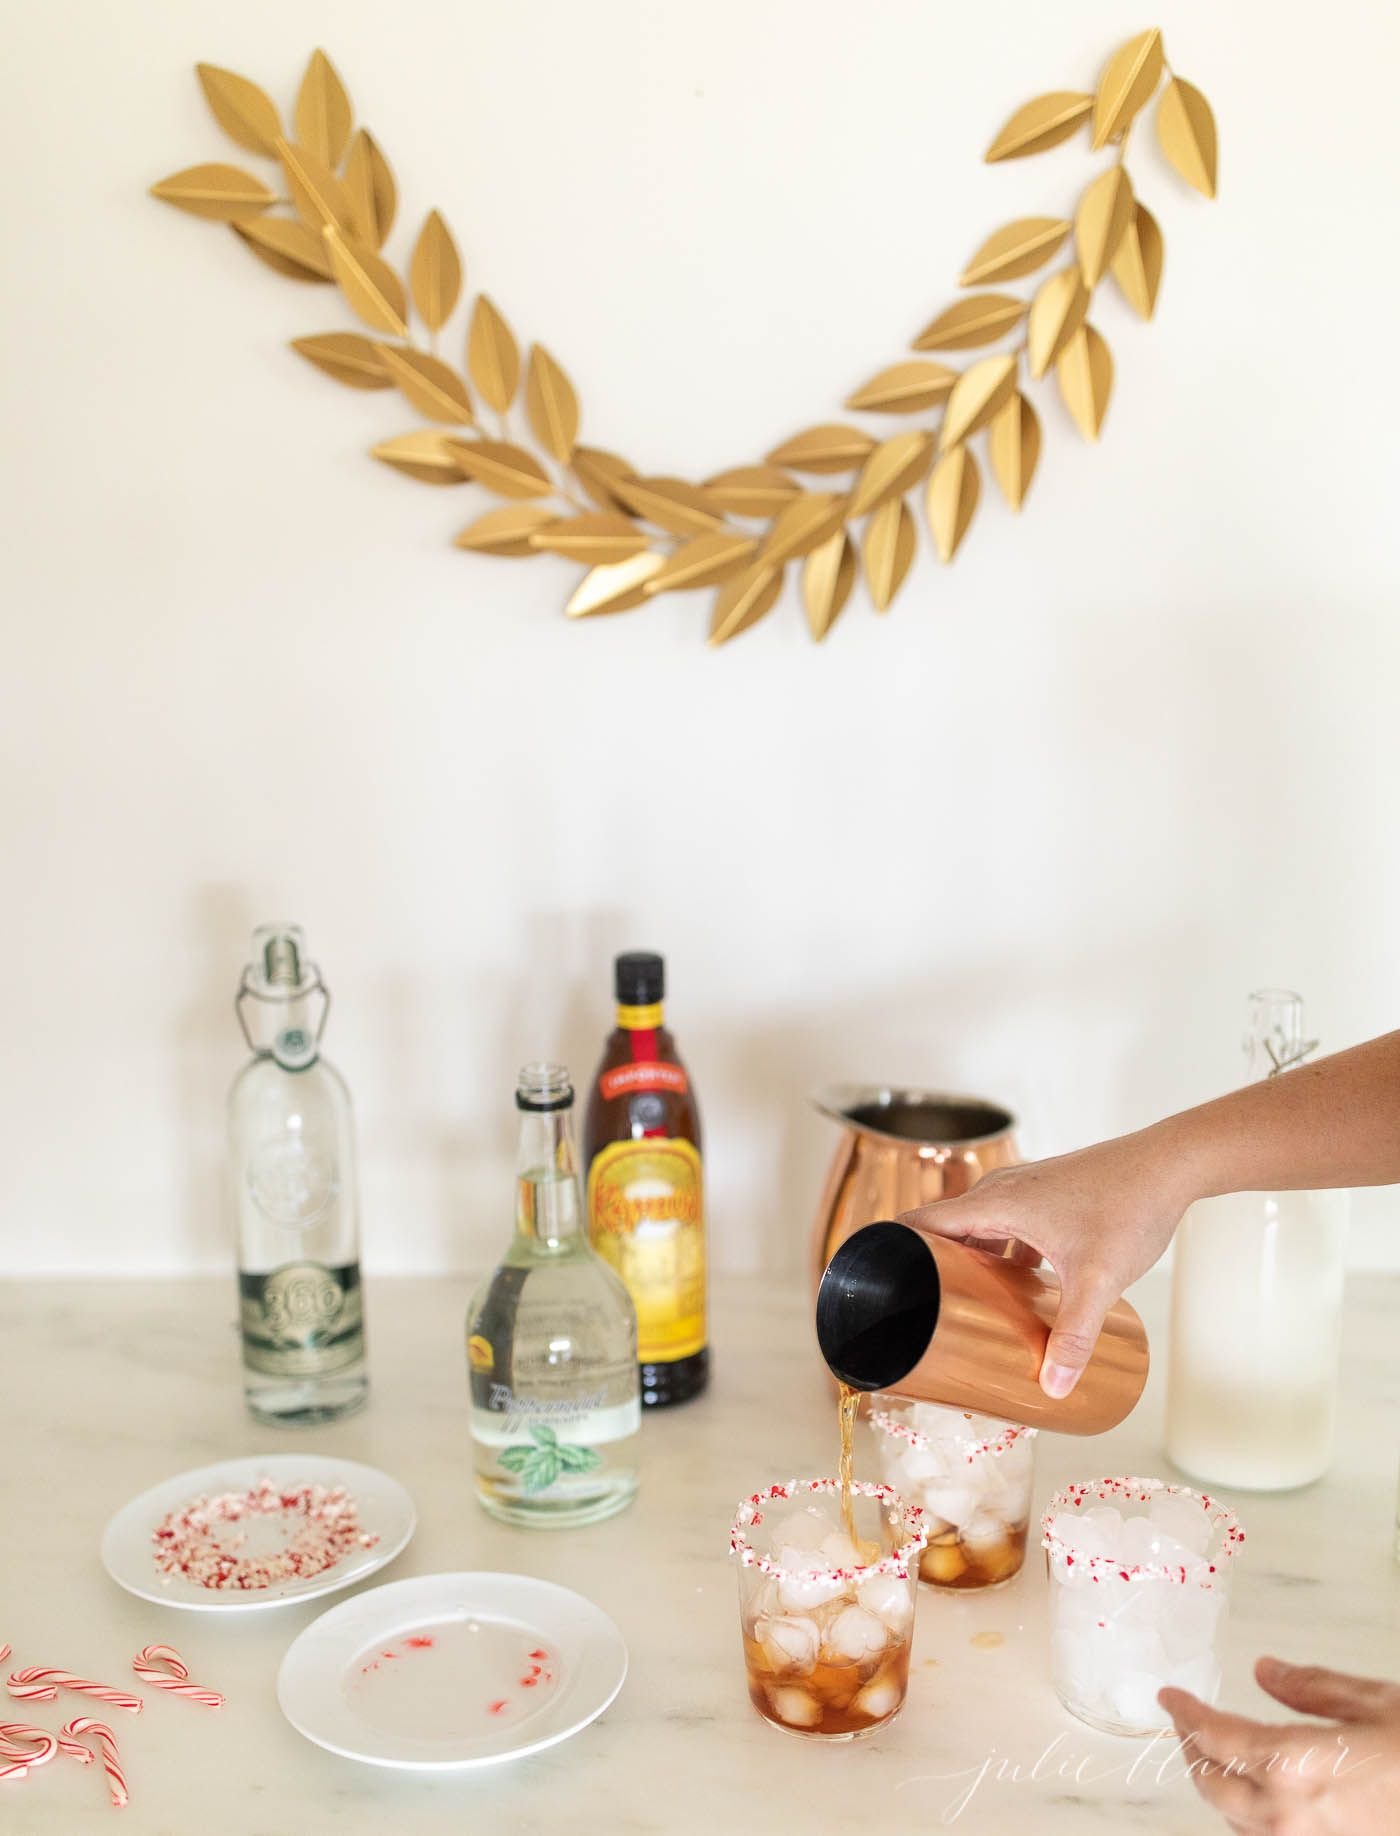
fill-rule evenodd
<path id="1" fill-rule="evenodd" d="M 378 1573 L 417 1526 L 387 1472 L 325 1454 L 250 1454 L 163 1480 L 103 1531 L 103 1568 L 196 1612 L 288 1606 Z"/>

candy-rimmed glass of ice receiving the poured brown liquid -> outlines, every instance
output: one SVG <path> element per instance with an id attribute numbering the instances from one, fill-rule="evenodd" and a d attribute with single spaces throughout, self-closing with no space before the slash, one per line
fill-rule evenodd
<path id="1" fill-rule="evenodd" d="M 730 1529 L 749 1696 L 774 1728 L 850 1741 L 908 1689 L 923 1511 L 888 1485 L 793 1480 L 745 1498 Z"/>

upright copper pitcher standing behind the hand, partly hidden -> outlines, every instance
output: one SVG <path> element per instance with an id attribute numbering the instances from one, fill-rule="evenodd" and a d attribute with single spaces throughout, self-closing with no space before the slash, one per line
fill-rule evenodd
<path id="1" fill-rule="evenodd" d="M 835 1083 L 815 1109 L 842 1127 L 813 1230 L 813 1285 L 846 1237 L 875 1217 L 895 1217 L 936 1199 L 956 1199 L 1020 1155 L 1017 1118 L 980 1096 Z"/>

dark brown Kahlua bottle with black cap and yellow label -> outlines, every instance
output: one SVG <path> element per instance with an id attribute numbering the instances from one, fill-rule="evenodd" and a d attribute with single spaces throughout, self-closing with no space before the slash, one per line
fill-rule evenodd
<path id="1" fill-rule="evenodd" d="M 583 1122 L 589 1236 L 637 1307 L 642 1403 L 662 1408 L 710 1375 L 699 1109 L 664 1024 L 661 957 L 628 951 L 613 982 L 617 1026 Z"/>

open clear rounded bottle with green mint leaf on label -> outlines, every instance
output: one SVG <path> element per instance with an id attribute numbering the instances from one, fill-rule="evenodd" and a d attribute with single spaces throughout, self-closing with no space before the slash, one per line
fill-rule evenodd
<path id="1" fill-rule="evenodd" d="M 527 1065 L 516 1236 L 466 1315 L 477 1496 L 506 1524 L 593 1524 L 637 1493 L 637 1313 L 583 1230 L 574 1092 Z"/>

